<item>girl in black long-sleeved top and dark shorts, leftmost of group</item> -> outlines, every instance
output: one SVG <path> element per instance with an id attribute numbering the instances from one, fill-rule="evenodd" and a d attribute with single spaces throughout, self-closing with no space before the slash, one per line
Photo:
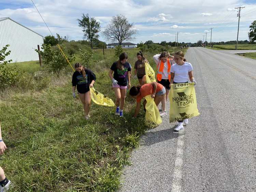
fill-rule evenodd
<path id="1" fill-rule="evenodd" d="M 79 97 L 84 105 L 84 118 L 89 119 L 89 110 L 91 106 L 90 87 L 96 80 L 96 76 L 91 70 L 85 69 L 81 63 L 75 63 L 75 72 L 72 76 L 72 95 L 75 98 L 75 87 L 79 92 Z"/>

